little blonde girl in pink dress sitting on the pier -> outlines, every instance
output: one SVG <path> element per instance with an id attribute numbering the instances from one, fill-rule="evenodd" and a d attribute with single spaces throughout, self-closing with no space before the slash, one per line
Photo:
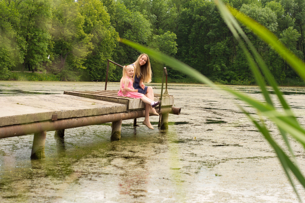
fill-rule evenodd
<path id="1" fill-rule="evenodd" d="M 144 103 L 148 103 L 152 106 L 152 108 L 156 107 L 161 103 L 161 101 L 153 101 L 149 99 L 142 93 L 138 93 L 138 89 L 133 88 L 133 79 L 135 78 L 135 69 L 132 65 L 124 66 L 123 68 L 123 77 L 120 81 L 120 90 L 117 93 L 118 96 L 128 96 L 132 98 L 141 99 Z M 127 91 L 127 94 L 123 94 L 122 91 Z M 153 129 L 152 125 L 149 121 L 144 120 L 143 124 L 146 125 L 148 128 Z"/>

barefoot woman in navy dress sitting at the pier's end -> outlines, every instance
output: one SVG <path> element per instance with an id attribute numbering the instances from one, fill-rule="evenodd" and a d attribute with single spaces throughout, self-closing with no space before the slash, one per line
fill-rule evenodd
<path id="1" fill-rule="evenodd" d="M 141 54 L 138 59 L 131 65 L 135 66 L 135 81 L 133 83 L 133 87 L 138 89 L 139 93 L 142 93 L 149 99 L 154 100 L 152 87 L 144 85 L 144 82 L 148 83 L 152 80 L 152 69 L 150 67 L 148 55 Z M 125 94 L 124 91 L 122 92 Z M 149 104 L 145 104 L 145 120 L 143 121 L 143 124 L 148 128 L 153 129 L 149 122 L 149 114 L 159 116 L 155 108 Z"/>

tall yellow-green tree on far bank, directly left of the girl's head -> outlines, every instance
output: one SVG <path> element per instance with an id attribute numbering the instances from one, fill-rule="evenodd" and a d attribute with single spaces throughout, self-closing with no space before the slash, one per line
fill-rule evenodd
<path id="1" fill-rule="evenodd" d="M 110 18 L 105 7 L 99 0 L 78 1 L 80 13 L 84 16 L 84 32 L 92 35 L 92 52 L 88 54 L 84 66 L 90 80 L 104 80 L 106 78 L 107 59 L 112 55 L 119 40 L 119 35 L 110 25 Z M 109 79 L 116 80 L 110 66 Z"/>

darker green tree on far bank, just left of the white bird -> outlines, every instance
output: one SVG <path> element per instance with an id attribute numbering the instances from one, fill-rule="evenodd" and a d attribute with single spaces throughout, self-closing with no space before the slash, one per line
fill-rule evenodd
<path id="1" fill-rule="evenodd" d="M 48 0 L 20 1 L 16 8 L 20 15 L 18 35 L 25 40 L 22 70 L 43 70 L 48 57 L 48 45 L 51 40 L 49 23 L 51 19 Z"/>

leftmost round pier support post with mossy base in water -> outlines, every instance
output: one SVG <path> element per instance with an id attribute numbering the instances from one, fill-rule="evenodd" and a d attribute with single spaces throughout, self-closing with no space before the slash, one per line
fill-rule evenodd
<path id="1" fill-rule="evenodd" d="M 45 158 L 45 138 L 47 131 L 34 134 L 31 159 L 44 159 Z"/>

